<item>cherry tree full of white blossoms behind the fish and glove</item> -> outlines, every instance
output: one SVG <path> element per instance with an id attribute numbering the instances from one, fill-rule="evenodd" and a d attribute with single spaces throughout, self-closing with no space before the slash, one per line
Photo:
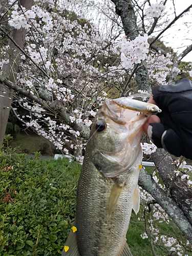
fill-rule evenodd
<path id="1" fill-rule="evenodd" d="M 25 128 L 47 138 L 62 153 L 82 160 L 79 152 L 105 97 L 128 96 L 138 90 L 150 93 L 155 84 L 177 81 L 179 65 L 192 45 L 172 50 L 160 43 L 167 31 L 191 17 L 192 5 L 178 10 L 175 4 L 174 0 L 2 4 L 2 136 L 11 109 Z M 192 71 L 186 72 L 186 77 L 191 75 Z M 154 255 L 159 241 L 182 255 L 183 248 L 191 249 L 192 244 L 192 182 L 180 171 L 182 160 L 174 162 L 152 143 L 145 142 L 142 148 L 152 153 L 156 164 L 152 175 L 142 168 L 139 178 L 146 208 L 153 210 L 142 238 L 151 236 Z M 168 216 L 189 241 L 186 246 L 160 235 L 154 227 L 157 219 L 168 224 Z"/>

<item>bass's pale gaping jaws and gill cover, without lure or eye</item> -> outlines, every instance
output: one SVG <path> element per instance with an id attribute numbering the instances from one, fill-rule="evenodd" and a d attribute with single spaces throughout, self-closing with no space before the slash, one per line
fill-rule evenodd
<path id="1" fill-rule="evenodd" d="M 101 136 L 100 144 L 92 157 L 95 167 L 104 177 L 114 178 L 122 175 L 133 167 L 136 160 L 141 161 L 140 140 L 147 118 L 147 113 L 122 108 L 108 98 L 104 100 L 97 120 L 106 122 L 106 131 L 110 135 L 105 137 L 103 131 L 103 137 Z M 94 139 L 94 145 L 97 143 Z"/>

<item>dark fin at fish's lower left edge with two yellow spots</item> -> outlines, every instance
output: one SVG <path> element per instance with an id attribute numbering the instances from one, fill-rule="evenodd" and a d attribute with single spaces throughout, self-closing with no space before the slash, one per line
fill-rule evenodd
<path id="1" fill-rule="evenodd" d="M 77 228 L 74 226 L 69 233 L 69 237 L 65 243 L 65 246 L 62 251 L 61 256 L 80 256 L 78 247 L 77 247 L 77 235 L 76 235 Z"/>

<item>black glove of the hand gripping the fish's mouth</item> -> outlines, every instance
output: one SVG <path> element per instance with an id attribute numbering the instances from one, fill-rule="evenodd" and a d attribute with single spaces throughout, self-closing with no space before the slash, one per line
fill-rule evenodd
<path id="1" fill-rule="evenodd" d="M 161 123 L 152 123 L 151 139 L 175 156 L 192 159 L 192 82 L 188 78 L 155 86 L 153 99 L 162 110 Z"/>

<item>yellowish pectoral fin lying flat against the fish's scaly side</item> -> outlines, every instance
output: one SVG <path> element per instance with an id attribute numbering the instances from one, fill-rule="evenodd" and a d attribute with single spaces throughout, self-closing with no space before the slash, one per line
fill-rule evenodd
<path id="1" fill-rule="evenodd" d="M 109 217 L 111 216 L 113 210 L 115 209 L 115 206 L 117 205 L 119 196 L 121 194 L 123 187 L 119 186 L 117 183 L 115 183 L 111 190 L 110 200 L 109 200 Z"/>

